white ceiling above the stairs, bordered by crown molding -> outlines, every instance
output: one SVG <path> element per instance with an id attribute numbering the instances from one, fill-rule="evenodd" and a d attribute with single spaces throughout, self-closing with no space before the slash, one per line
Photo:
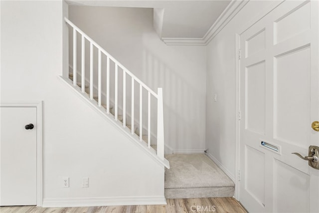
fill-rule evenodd
<path id="1" fill-rule="evenodd" d="M 161 38 L 202 38 L 231 0 L 66 0 L 69 5 L 156 8 Z M 161 9 L 162 8 L 162 9 Z"/>

